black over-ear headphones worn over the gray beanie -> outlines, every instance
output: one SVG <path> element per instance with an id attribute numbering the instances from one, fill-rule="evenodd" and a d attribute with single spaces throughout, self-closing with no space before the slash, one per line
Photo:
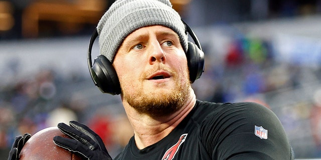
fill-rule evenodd
<path id="1" fill-rule="evenodd" d="M 190 41 L 188 42 L 189 48 L 186 52 L 190 71 L 190 80 L 193 83 L 196 79 L 201 77 L 204 71 L 204 52 L 202 51 L 200 41 L 194 31 L 184 20 L 182 21 L 186 25 L 186 31 L 191 35 L 195 42 L 195 44 Z M 97 36 L 98 31 L 95 29 L 91 35 L 87 53 L 87 62 L 91 78 L 103 93 L 109 93 L 112 95 L 120 94 L 121 89 L 116 70 L 107 57 L 100 54 L 94 59 L 94 63 L 92 64 L 91 50 Z"/>

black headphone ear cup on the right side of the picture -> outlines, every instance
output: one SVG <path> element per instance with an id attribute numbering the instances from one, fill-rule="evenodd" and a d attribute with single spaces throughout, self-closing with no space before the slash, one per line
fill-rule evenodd
<path id="1" fill-rule="evenodd" d="M 193 42 L 188 42 L 187 63 L 190 71 L 190 80 L 193 83 L 204 72 L 204 52 Z"/>

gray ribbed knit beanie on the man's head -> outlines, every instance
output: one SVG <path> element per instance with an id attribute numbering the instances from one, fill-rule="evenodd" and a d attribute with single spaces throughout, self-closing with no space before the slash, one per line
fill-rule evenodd
<path id="1" fill-rule="evenodd" d="M 148 25 L 163 25 L 173 29 L 179 35 L 184 51 L 187 51 L 186 28 L 170 0 L 116 0 L 97 26 L 100 54 L 112 62 L 125 37 Z"/>

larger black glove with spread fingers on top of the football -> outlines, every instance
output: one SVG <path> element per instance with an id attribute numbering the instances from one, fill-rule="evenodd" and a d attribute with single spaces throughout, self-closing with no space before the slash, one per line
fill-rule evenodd
<path id="1" fill-rule="evenodd" d="M 99 135 L 88 126 L 77 121 L 70 121 L 69 125 L 59 123 L 58 128 L 73 139 L 55 136 L 56 145 L 78 152 L 88 160 L 112 160 Z"/>

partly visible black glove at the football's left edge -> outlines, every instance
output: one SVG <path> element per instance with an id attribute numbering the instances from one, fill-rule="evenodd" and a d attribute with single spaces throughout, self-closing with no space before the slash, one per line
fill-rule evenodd
<path id="1" fill-rule="evenodd" d="M 29 133 L 25 133 L 24 136 L 16 136 L 15 142 L 13 143 L 9 152 L 8 160 L 19 160 L 19 154 L 21 152 L 21 149 L 30 137 L 31 134 Z"/>

